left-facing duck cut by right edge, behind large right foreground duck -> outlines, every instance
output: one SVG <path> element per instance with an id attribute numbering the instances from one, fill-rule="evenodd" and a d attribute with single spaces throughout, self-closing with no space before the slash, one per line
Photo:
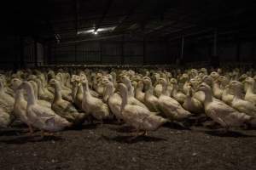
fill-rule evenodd
<path id="1" fill-rule="evenodd" d="M 231 88 L 235 91 L 235 97 L 232 100 L 231 106 L 237 111 L 241 111 L 249 116 L 256 116 L 256 105 L 250 101 L 242 99 L 243 97 L 243 84 L 241 82 L 230 82 Z"/>

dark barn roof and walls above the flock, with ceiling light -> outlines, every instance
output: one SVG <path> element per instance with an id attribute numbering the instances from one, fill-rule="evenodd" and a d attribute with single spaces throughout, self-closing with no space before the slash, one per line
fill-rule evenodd
<path id="1" fill-rule="evenodd" d="M 20 1 L 3 5 L 1 66 L 255 63 L 255 4 Z"/>

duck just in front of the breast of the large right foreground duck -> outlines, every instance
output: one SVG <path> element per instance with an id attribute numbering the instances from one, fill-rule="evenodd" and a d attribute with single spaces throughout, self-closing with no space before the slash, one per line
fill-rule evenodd
<path id="1" fill-rule="evenodd" d="M 195 99 L 193 97 L 191 86 L 188 86 L 187 88 L 188 88 L 188 91 L 186 94 L 186 99 L 184 100 L 184 103 L 183 103 L 183 108 L 187 111 L 190 111 L 191 113 L 194 113 L 194 114 L 203 113 L 204 108 L 203 108 L 201 101 L 199 101 L 198 99 Z"/>

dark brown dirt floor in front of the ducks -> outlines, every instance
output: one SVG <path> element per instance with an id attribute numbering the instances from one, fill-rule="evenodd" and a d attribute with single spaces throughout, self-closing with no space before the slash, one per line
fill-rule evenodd
<path id="1" fill-rule="evenodd" d="M 167 125 L 137 139 L 113 124 L 44 138 L 25 127 L 0 129 L 0 169 L 256 169 L 256 130 L 192 128 Z"/>

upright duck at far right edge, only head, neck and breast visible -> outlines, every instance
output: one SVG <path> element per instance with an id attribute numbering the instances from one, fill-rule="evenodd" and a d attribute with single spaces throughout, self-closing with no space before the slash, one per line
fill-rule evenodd
<path id="1" fill-rule="evenodd" d="M 247 101 L 252 102 L 254 105 L 256 104 L 256 94 L 254 94 L 253 89 L 255 87 L 255 80 L 252 77 L 247 77 L 245 79 L 247 83 L 247 91 L 245 94 L 245 98 Z"/>

